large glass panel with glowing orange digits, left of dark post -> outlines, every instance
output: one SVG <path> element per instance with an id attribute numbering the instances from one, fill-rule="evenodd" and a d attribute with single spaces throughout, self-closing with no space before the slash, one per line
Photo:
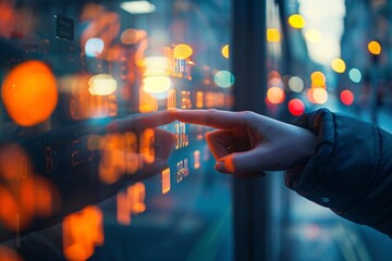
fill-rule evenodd
<path id="1" fill-rule="evenodd" d="M 231 1 L 0 0 L 0 256 L 232 260 Z M 29 236 L 27 236 L 28 233 Z"/>

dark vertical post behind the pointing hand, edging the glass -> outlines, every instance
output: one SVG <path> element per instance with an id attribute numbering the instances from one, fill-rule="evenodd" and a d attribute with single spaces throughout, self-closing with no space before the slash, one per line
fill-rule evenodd
<path id="1" fill-rule="evenodd" d="M 266 1 L 233 0 L 234 110 L 265 113 Z M 268 178 L 234 178 L 235 260 L 269 259 Z"/>

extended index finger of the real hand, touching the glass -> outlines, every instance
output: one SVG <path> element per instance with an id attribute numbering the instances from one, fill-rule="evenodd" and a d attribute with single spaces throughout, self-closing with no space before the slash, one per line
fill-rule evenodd
<path id="1" fill-rule="evenodd" d="M 241 123 L 241 116 L 236 112 L 208 110 L 175 110 L 172 111 L 174 119 L 185 123 L 199 124 L 213 128 L 232 128 Z"/>

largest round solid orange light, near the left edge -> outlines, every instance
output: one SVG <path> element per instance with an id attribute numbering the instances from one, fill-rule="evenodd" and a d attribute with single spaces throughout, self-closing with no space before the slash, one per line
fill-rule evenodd
<path id="1" fill-rule="evenodd" d="M 1 96 L 8 113 L 15 123 L 33 126 L 46 121 L 57 105 L 56 78 L 45 63 L 24 62 L 5 76 Z"/>

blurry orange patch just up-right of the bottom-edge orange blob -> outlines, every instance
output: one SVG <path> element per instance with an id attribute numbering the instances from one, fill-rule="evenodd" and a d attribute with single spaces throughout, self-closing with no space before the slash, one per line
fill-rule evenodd
<path id="1" fill-rule="evenodd" d="M 117 216 L 121 225 L 131 224 L 131 214 L 139 214 L 146 210 L 145 204 L 146 187 L 138 182 L 128 186 L 125 191 L 120 191 L 117 196 Z"/>

